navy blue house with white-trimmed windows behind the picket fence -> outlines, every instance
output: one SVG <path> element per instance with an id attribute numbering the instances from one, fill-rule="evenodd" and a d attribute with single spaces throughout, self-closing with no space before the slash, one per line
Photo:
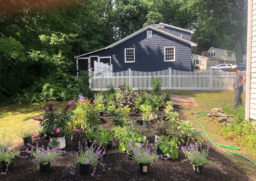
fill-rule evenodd
<path id="1" fill-rule="evenodd" d="M 191 71 L 193 31 L 168 24 L 153 24 L 108 47 L 76 56 L 77 71 L 94 68 L 93 61 L 112 64 L 113 72 L 178 69 Z"/>

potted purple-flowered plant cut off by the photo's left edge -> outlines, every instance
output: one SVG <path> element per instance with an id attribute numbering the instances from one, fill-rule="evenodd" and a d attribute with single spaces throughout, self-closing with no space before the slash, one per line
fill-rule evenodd
<path id="1" fill-rule="evenodd" d="M 13 159 L 16 156 L 20 156 L 20 152 L 19 150 L 12 150 L 10 148 L 10 143 L 2 142 L 0 144 L 0 161 L 3 168 L 3 172 L 1 172 L 1 174 L 6 174 L 8 168 L 10 167 L 10 164 L 12 164 Z"/>

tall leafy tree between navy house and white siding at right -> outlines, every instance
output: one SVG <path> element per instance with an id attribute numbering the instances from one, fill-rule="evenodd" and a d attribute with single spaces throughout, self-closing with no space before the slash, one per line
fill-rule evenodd
<path id="1" fill-rule="evenodd" d="M 217 47 L 236 51 L 237 64 L 243 62 L 246 47 L 246 0 L 194 0 L 198 17 L 194 41 L 197 52 Z"/>

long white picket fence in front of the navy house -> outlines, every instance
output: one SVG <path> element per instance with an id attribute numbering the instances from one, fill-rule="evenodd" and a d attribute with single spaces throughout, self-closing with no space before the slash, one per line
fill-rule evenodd
<path id="1" fill-rule="evenodd" d="M 152 90 L 152 76 L 161 78 L 161 89 L 179 90 L 230 90 L 233 89 L 235 72 L 223 71 L 178 71 L 166 69 L 154 72 L 126 71 L 115 73 L 91 73 L 90 87 L 93 91 L 106 91 L 108 85 L 118 88 L 129 84 L 132 90 Z"/>

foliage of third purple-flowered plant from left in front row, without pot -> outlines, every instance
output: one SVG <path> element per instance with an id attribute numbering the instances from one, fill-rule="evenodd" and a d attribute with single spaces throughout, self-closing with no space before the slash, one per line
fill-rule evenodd
<path id="1" fill-rule="evenodd" d="M 74 169 L 76 168 L 76 164 L 88 164 L 93 167 L 93 173 L 94 175 L 96 166 L 100 164 L 103 167 L 104 166 L 101 163 L 102 157 L 106 154 L 105 148 L 101 147 L 101 145 L 96 144 L 96 140 L 93 141 L 92 145 L 88 147 L 87 143 L 83 148 L 83 145 L 81 145 L 81 142 L 78 142 L 79 152 L 76 152 L 76 162 L 72 166 L 70 173 L 74 175 Z M 73 154 L 72 154 L 73 155 Z"/>

